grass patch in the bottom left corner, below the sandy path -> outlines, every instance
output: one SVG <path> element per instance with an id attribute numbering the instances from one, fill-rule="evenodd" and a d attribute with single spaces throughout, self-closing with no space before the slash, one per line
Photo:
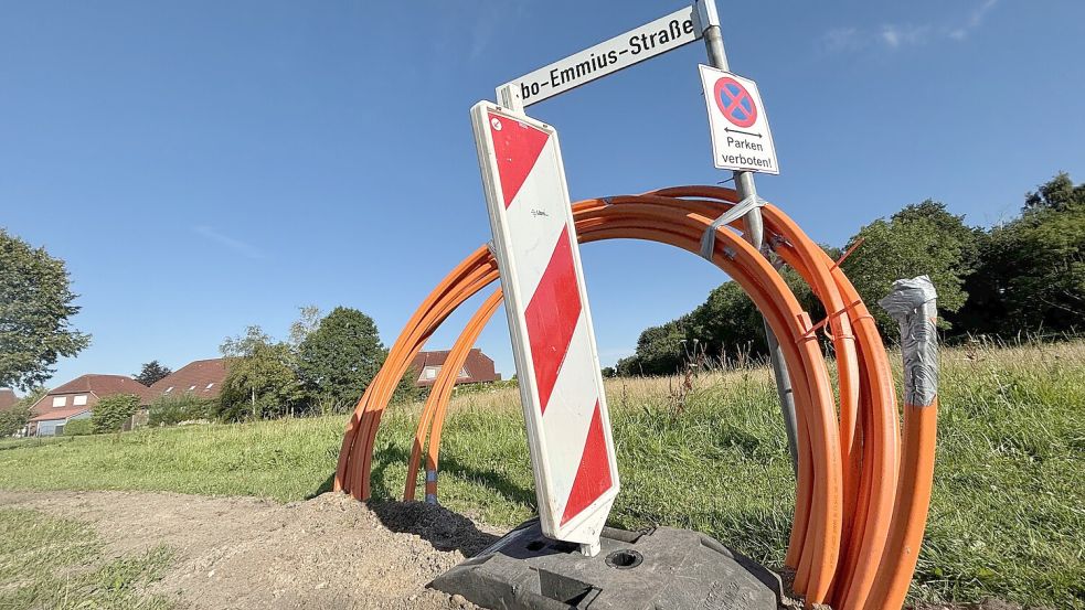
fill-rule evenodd
<path id="1" fill-rule="evenodd" d="M 164 546 L 103 561 L 103 545 L 86 523 L 25 509 L 0 509 L 0 608 L 166 610 L 142 587 L 173 561 Z"/>

